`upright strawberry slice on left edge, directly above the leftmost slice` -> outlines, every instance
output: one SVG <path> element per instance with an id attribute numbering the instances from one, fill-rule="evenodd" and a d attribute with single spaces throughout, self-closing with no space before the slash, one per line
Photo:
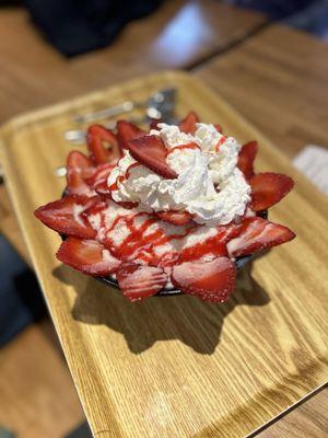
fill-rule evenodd
<path id="1" fill-rule="evenodd" d="M 71 151 L 67 158 L 67 189 L 70 194 L 92 196 L 93 192 L 85 182 L 93 175 L 92 161 L 79 151 Z"/>

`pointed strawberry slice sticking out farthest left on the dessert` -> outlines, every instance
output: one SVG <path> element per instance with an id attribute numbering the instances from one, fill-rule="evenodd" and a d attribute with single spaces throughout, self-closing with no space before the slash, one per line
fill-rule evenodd
<path id="1" fill-rule="evenodd" d="M 90 226 L 84 211 L 97 201 L 97 196 L 89 198 L 80 195 L 68 195 L 37 208 L 34 215 L 47 227 L 59 233 L 93 239 L 96 232 Z"/>

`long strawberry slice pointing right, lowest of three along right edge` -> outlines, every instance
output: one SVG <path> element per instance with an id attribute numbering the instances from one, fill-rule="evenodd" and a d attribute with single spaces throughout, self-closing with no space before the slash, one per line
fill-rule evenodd
<path id="1" fill-rule="evenodd" d="M 239 234 L 226 249 L 231 257 L 241 257 L 280 245 L 295 238 L 289 228 L 259 217 L 244 219 Z"/>

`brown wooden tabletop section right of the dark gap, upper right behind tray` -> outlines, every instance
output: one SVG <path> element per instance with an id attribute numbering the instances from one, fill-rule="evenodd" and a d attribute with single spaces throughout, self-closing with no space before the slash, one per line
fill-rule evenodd
<path id="1" fill-rule="evenodd" d="M 328 147 L 328 44 L 271 25 L 197 74 L 290 158 Z"/>

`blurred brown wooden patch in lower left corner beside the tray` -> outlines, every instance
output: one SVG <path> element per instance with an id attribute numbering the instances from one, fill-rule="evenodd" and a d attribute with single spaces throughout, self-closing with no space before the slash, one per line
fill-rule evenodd
<path id="1" fill-rule="evenodd" d="M 40 324 L 1 349 L 0 377 L 0 425 L 16 437 L 62 438 L 83 420 L 70 373 Z"/>

